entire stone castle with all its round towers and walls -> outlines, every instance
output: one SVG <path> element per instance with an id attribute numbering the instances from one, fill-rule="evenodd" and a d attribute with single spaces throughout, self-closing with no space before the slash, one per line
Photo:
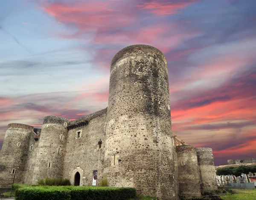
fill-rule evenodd
<path id="1" fill-rule="evenodd" d="M 15 183 L 62 177 L 77 186 L 98 186 L 105 174 L 109 186 L 161 200 L 217 189 L 212 149 L 190 146 L 172 131 L 166 58 L 148 45 L 113 57 L 104 110 L 75 121 L 46 116 L 41 129 L 9 124 L 0 187 L 11 186 L 15 174 Z"/>

